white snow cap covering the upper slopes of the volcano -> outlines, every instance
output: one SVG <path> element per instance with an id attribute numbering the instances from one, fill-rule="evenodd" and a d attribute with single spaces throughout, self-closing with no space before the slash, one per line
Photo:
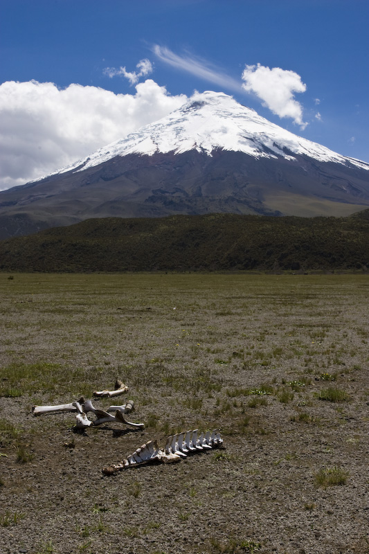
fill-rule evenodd
<path id="1" fill-rule="evenodd" d="M 244 152 L 254 158 L 293 160 L 294 154 L 305 154 L 318 161 L 350 163 L 369 170 L 369 164 L 303 139 L 239 104 L 232 96 L 206 91 L 195 93 L 186 104 L 159 121 L 141 127 L 57 173 L 73 169 L 82 171 L 127 154 L 152 156 L 156 152 L 182 154 L 197 150 L 211 156 L 217 149 Z"/>

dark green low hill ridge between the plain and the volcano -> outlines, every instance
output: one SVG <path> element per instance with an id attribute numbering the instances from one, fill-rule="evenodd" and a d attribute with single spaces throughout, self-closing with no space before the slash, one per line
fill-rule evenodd
<path id="1" fill-rule="evenodd" d="M 369 269 L 369 210 L 350 217 L 87 220 L 0 242 L 2 271 Z"/>

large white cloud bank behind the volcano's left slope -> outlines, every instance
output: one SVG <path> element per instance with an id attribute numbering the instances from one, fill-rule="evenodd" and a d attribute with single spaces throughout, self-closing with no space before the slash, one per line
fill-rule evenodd
<path id="1" fill-rule="evenodd" d="M 0 190 L 42 177 L 168 115 L 188 100 L 151 79 L 134 94 L 52 82 L 0 85 Z"/>

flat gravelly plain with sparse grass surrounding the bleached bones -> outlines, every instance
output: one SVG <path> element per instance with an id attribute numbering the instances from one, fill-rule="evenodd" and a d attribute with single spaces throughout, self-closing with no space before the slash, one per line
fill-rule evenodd
<path id="1" fill-rule="evenodd" d="M 368 276 L 0 274 L 0 295 L 1 554 L 369 553 Z M 116 377 L 144 431 L 31 413 Z M 224 449 L 101 472 L 195 428 Z"/>

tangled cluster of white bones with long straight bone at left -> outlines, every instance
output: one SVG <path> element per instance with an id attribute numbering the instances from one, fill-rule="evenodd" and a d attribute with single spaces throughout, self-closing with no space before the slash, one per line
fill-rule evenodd
<path id="1" fill-rule="evenodd" d="M 51 412 L 63 412 L 63 411 L 76 411 L 75 416 L 77 423 L 75 427 L 83 428 L 90 427 L 91 425 L 101 425 L 102 423 L 107 422 L 119 422 L 125 423 L 126 425 L 131 425 L 132 427 L 138 427 L 143 429 L 143 423 L 132 423 L 127 421 L 124 417 L 124 413 L 129 413 L 134 408 L 133 400 L 129 400 L 127 404 L 122 406 L 109 406 L 107 411 L 100 410 L 93 406 L 91 400 L 84 400 L 83 397 L 80 398 L 77 402 L 71 402 L 71 404 L 58 404 L 57 406 L 33 406 L 32 411 L 33 415 L 42 415 L 43 413 Z M 109 412 L 114 412 L 115 415 L 111 415 Z M 87 413 L 92 412 L 96 415 L 96 420 L 89 420 L 87 418 Z"/>

